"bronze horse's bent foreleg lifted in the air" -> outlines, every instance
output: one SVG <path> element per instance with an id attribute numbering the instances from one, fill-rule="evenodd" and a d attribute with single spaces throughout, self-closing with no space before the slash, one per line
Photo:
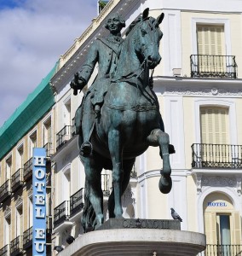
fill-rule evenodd
<path id="1" fill-rule="evenodd" d="M 160 156 L 163 159 L 163 169 L 160 171 L 161 177 L 158 183 L 159 190 L 168 194 L 172 187 L 171 181 L 171 168 L 169 157 L 169 135 L 160 129 L 155 129 L 147 137 L 147 141 L 151 146 L 155 146 L 158 143 L 160 149 Z"/>

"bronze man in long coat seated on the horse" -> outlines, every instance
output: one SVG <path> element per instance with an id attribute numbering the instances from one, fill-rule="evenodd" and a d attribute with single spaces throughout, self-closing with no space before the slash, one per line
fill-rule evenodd
<path id="1" fill-rule="evenodd" d="M 74 91 L 83 90 L 98 62 L 98 74 L 95 81 L 86 92 L 84 102 L 76 113 L 76 128 L 78 130 L 76 132 L 79 134 L 80 129 L 83 131 L 84 143 L 81 145 L 80 154 L 84 156 L 88 156 L 92 150 L 89 137 L 93 131 L 95 117 L 100 114 L 104 96 L 117 66 L 120 46 L 124 42 L 120 31 L 124 26 L 124 18 L 118 13 L 107 17 L 105 27 L 109 30 L 109 35 L 105 38 L 97 38 L 90 46 L 86 62 L 82 69 L 75 74 L 75 78 L 70 84 Z"/>

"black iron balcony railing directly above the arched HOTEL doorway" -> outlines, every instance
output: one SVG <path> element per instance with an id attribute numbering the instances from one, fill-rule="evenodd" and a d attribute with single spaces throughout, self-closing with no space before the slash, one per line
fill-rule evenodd
<path id="1" fill-rule="evenodd" d="M 242 168 L 242 145 L 192 145 L 193 168 Z"/>

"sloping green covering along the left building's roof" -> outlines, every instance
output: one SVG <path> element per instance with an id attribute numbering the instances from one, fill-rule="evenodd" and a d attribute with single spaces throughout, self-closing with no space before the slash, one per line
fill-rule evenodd
<path id="1" fill-rule="evenodd" d="M 49 81 L 54 76 L 58 65 L 59 61 L 0 128 L 0 160 L 55 104 L 55 97 Z"/>

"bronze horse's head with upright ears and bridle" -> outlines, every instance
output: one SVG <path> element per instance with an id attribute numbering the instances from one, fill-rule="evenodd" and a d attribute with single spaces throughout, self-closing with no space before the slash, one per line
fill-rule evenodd
<path id="1" fill-rule="evenodd" d="M 149 9 L 145 9 L 141 22 L 137 26 L 135 51 L 142 59 L 147 60 L 147 67 L 154 68 L 161 61 L 158 49 L 163 33 L 159 28 L 159 24 L 164 19 L 164 14 L 159 15 L 157 19 L 148 17 L 148 14 Z"/>

